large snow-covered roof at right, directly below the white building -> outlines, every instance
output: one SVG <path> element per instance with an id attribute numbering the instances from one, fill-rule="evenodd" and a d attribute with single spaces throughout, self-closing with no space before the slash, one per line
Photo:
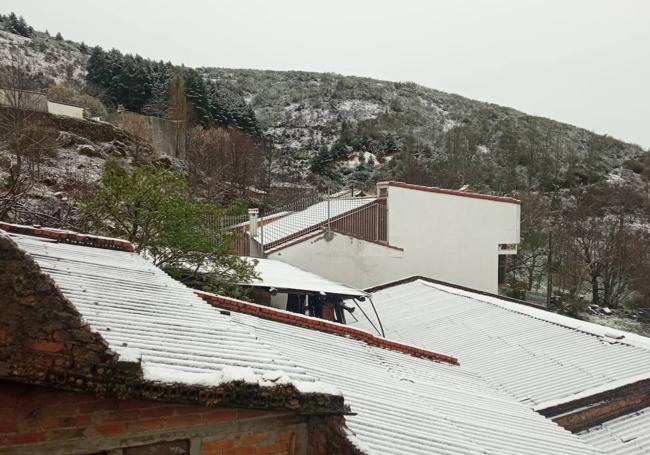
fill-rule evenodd
<path id="1" fill-rule="evenodd" d="M 538 410 L 650 371 L 648 338 L 498 296 L 415 279 L 380 287 L 372 300 L 389 339 L 458 357 Z"/>

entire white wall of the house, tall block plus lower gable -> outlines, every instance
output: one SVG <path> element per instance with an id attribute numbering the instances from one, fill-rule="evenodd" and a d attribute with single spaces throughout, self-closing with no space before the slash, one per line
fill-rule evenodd
<path id="1" fill-rule="evenodd" d="M 269 257 L 356 288 L 422 275 L 498 291 L 499 244 L 519 243 L 519 204 L 392 185 L 387 204 L 388 243 L 403 251 L 335 233 Z"/>

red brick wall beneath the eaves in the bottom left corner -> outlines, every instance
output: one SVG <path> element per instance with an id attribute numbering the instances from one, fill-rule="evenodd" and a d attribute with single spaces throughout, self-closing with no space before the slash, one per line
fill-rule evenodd
<path id="1" fill-rule="evenodd" d="M 306 419 L 286 412 L 99 398 L 0 381 L 2 455 L 182 455 L 183 447 L 192 455 L 302 455 L 311 453 Z"/>

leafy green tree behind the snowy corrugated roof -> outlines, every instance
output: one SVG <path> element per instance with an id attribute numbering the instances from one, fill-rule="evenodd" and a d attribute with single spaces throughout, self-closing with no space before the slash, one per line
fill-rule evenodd
<path id="1" fill-rule="evenodd" d="M 220 210 L 193 200 L 177 172 L 108 160 L 80 214 L 88 230 L 129 240 L 156 266 L 205 290 L 240 296 L 234 285 L 254 277 L 232 250 L 234 234 L 217 229 Z"/>

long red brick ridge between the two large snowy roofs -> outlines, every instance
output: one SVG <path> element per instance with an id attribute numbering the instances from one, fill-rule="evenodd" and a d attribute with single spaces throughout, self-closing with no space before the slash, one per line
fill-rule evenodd
<path id="1" fill-rule="evenodd" d="M 297 327 L 317 330 L 332 335 L 338 335 L 355 340 L 363 341 L 371 346 L 400 352 L 413 357 L 425 358 L 436 362 L 449 363 L 451 365 L 460 365 L 457 358 L 440 354 L 427 349 L 422 349 L 405 343 L 388 340 L 375 336 L 365 330 L 357 329 L 348 325 L 338 324 L 323 319 L 312 318 L 309 316 L 291 313 L 276 308 L 257 305 L 255 303 L 244 302 L 230 297 L 224 297 L 217 294 L 211 294 L 203 291 L 195 291 L 196 294 L 219 308 L 256 316 L 262 319 L 291 324 Z"/>

